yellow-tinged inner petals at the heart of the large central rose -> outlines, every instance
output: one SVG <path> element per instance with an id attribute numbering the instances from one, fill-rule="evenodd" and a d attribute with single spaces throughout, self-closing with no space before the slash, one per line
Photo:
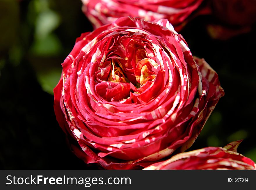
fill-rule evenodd
<path id="1" fill-rule="evenodd" d="M 125 39 L 122 43 L 102 64 L 108 74 L 101 76 L 108 83 L 106 87 L 102 85 L 105 89 L 100 91 L 100 96 L 111 102 L 129 99 L 141 103 L 140 94 L 154 83 L 158 64 L 151 59 L 154 54 L 143 41 Z"/>

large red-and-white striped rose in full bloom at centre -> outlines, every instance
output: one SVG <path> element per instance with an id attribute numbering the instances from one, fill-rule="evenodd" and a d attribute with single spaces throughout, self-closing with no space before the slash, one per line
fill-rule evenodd
<path id="1" fill-rule="evenodd" d="M 168 20 L 156 22 L 121 17 L 83 33 L 62 64 L 55 114 L 86 163 L 133 169 L 185 151 L 224 95 Z"/>

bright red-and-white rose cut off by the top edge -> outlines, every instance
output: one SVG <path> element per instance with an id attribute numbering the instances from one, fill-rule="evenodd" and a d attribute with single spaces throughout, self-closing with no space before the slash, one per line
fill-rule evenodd
<path id="1" fill-rule="evenodd" d="M 187 18 L 198 9 L 203 0 L 82 0 L 83 12 L 93 23 L 94 28 L 111 23 L 123 16 L 141 17 L 147 21 L 168 19 L 180 30 Z M 203 13 L 203 10 L 201 10 Z"/>

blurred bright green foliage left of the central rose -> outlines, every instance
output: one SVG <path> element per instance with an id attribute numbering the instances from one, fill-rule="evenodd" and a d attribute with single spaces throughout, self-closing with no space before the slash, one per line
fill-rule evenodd
<path id="1" fill-rule="evenodd" d="M 31 1 L 28 15 L 30 15 L 30 22 L 34 28 L 34 39 L 29 50 L 30 57 L 33 59 L 31 64 L 42 89 L 49 94 L 53 94 L 53 88 L 61 74 L 61 62 L 54 62 L 56 57 L 63 52 L 61 40 L 55 34 L 55 30 L 61 23 L 61 17 L 51 9 L 49 0 Z M 33 15 L 32 18 L 31 15 Z M 48 58 L 48 63 L 34 61 L 44 57 Z M 57 64 L 59 67 L 56 66 Z"/>

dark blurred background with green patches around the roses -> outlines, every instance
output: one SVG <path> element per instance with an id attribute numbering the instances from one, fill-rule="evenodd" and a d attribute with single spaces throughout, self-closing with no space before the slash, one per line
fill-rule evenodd
<path id="1" fill-rule="evenodd" d="M 81 6 L 80 0 L 0 0 L 1 169 L 94 169 L 70 151 L 53 109 L 61 63 L 75 39 L 93 30 Z M 225 91 L 189 150 L 243 139 L 238 152 L 256 162 L 256 27 L 212 39 L 206 26 L 218 22 L 198 16 L 179 32 Z"/>

